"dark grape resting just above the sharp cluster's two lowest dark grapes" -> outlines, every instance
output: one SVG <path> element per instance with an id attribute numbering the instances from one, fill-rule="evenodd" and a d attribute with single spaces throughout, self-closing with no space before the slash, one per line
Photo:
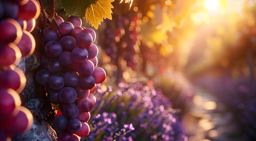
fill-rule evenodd
<path id="1" fill-rule="evenodd" d="M 69 119 L 76 118 L 78 113 L 79 109 L 77 105 L 73 103 L 66 105 L 63 109 L 63 114 Z"/>

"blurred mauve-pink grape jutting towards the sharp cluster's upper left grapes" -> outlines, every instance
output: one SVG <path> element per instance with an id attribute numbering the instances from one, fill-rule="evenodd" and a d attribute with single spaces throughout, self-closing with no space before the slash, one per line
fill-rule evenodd
<path id="1" fill-rule="evenodd" d="M 20 42 L 17 44 L 21 51 L 21 56 L 30 56 L 33 54 L 36 48 L 36 41 L 34 37 L 28 32 L 23 31 Z"/>

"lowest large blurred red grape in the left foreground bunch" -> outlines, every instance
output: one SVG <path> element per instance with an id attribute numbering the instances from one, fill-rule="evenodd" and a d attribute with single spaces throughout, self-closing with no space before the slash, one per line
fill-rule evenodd
<path id="1" fill-rule="evenodd" d="M 11 137 L 30 130 L 33 125 L 33 115 L 27 108 L 21 107 L 17 115 L 0 122 L 1 129 Z"/>

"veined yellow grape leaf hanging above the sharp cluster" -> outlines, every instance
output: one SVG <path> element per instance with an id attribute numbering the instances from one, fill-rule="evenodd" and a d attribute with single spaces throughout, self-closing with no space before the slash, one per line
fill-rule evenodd
<path id="1" fill-rule="evenodd" d="M 92 3 L 90 0 L 89 7 L 85 9 L 85 19 L 89 24 L 98 29 L 99 25 L 103 21 L 103 18 L 112 20 L 112 10 L 114 8 L 111 2 L 114 0 L 97 0 Z"/>

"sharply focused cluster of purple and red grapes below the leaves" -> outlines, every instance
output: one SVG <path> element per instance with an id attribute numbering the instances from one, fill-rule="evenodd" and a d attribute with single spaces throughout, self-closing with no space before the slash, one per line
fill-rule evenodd
<path id="1" fill-rule="evenodd" d="M 89 134 L 89 111 L 96 102 L 91 93 L 105 80 L 106 73 L 97 67 L 94 30 L 81 27 L 78 16 L 67 21 L 55 16 L 55 21 L 57 26 L 51 23 L 43 30 L 45 54 L 36 81 L 45 86 L 49 101 L 59 104 L 53 121 L 60 131 L 58 141 L 79 140 Z"/>

